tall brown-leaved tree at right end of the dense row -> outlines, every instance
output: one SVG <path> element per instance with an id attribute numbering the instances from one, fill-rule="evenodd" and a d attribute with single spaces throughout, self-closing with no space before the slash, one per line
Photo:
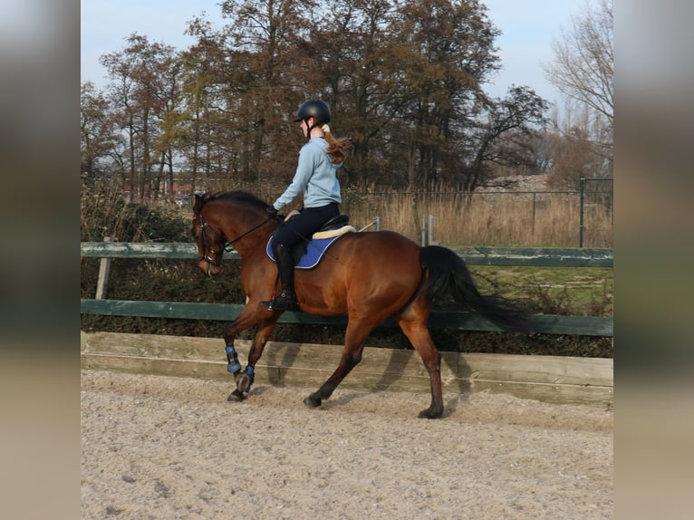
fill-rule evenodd
<path id="1" fill-rule="evenodd" d="M 410 121 L 401 146 L 409 150 L 411 188 L 455 176 L 457 153 L 472 151 L 461 144 L 484 99 L 480 85 L 498 68 L 498 30 L 477 2 L 427 0 L 399 12 L 393 32 L 410 50 L 401 63 L 409 98 L 403 115 Z"/>

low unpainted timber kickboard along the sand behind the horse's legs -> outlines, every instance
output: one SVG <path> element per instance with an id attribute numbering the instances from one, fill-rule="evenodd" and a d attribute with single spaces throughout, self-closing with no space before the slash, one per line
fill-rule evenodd
<path id="1" fill-rule="evenodd" d="M 82 332 L 82 367 L 227 381 L 223 342 L 159 334 Z M 250 342 L 236 340 L 242 364 Z M 255 385 L 315 390 L 333 373 L 342 346 L 267 342 L 255 365 Z M 446 394 L 482 390 L 522 399 L 611 408 L 613 363 L 603 358 L 441 352 Z M 429 393 L 429 374 L 413 350 L 366 347 L 361 363 L 341 389 Z"/>

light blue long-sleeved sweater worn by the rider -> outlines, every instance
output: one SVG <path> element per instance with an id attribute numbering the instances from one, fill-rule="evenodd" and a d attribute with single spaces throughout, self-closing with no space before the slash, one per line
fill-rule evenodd
<path id="1" fill-rule="evenodd" d="M 328 143 L 323 138 L 311 138 L 299 151 L 299 165 L 292 184 L 277 197 L 273 206 L 280 210 L 304 193 L 304 207 L 322 207 L 331 202 L 342 202 L 340 182 L 337 180 L 337 169 L 342 163 L 333 164 L 331 157 L 325 153 Z"/>

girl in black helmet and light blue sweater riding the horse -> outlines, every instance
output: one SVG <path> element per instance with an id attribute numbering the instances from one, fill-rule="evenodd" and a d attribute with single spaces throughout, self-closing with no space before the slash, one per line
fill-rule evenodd
<path id="1" fill-rule="evenodd" d="M 349 139 L 333 137 L 328 127 L 330 120 L 330 107 L 321 100 L 304 101 L 294 120 L 301 122 L 301 130 L 308 142 L 299 151 L 299 163 L 292 183 L 277 197 L 273 206 L 268 207 L 268 211 L 276 214 L 301 192 L 304 193 L 304 207 L 299 215 L 279 226 L 272 239 L 282 293 L 260 303 L 270 311 L 296 309 L 292 247 L 302 240 L 309 240 L 323 224 L 340 214 L 342 197 L 337 169 L 344 161 L 344 150 L 352 143 Z"/>

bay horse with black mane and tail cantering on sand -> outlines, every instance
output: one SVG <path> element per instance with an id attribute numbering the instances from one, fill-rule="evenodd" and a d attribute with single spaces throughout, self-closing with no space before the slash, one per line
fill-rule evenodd
<path id="1" fill-rule="evenodd" d="M 198 246 L 198 267 L 208 276 L 219 274 L 225 251 L 241 257 L 240 282 L 246 305 L 226 329 L 227 370 L 236 390 L 228 400 L 241 401 L 253 384 L 255 364 L 282 312 L 259 305 L 278 288 L 277 269 L 266 246 L 283 216 L 259 197 L 244 191 L 196 195 L 190 232 Z M 291 226 L 291 220 L 286 225 Z M 306 237 L 308 240 L 308 237 Z M 294 288 L 299 311 L 322 316 L 347 316 L 342 357 L 333 374 L 304 399 L 319 407 L 361 361 L 371 331 L 393 317 L 429 372 L 431 403 L 420 418 L 436 419 L 444 411 L 441 355 L 427 326 L 435 296 L 448 294 L 457 303 L 508 331 L 527 332 L 527 316 L 512 301 L 477 290 L 464 261 L 443 246 L 419 246 L 393 231 L 352 231 L 336 240 L 321 262 L 297 269 Z M 241 370 L 234 341 L 256 327 L 247 366 Z"/>

